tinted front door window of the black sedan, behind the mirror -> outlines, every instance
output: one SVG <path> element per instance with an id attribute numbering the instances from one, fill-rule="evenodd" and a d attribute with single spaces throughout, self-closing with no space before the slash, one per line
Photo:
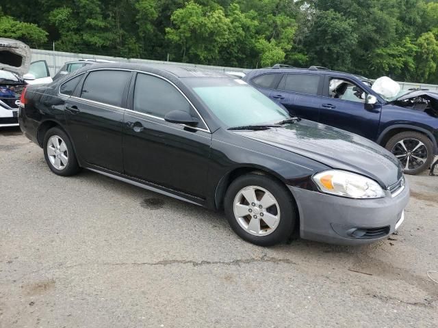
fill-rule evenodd
<path id="1" fill-rule="evenodd" d="M 164 118 L 170 111 L 185 111 L 199 118 L 187 99 L 176 87 L 149 74 L 137 74 L 134 88 L 133 110 L 140 113 Z M 201 122 L 199 128 L 206 128 Z"/>

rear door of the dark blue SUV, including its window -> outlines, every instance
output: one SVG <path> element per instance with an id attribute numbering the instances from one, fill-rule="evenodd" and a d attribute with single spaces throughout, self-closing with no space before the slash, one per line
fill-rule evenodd
<path id="1" fill-rule="evenodd" d="M 286 73 L 270 98 L 298 118 L 318 122 L 324 78 L 319 74 Z"/>

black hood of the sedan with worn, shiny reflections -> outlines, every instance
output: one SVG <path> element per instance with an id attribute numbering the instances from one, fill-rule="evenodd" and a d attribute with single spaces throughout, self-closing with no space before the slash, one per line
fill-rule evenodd
<path id="1" fill-rule="evenodd" d="M 368 176 L 387 188 L 402 177 L 396 157 L 376 143 L 324 124 L 301 120 L 263 131 L 233 131 L 333 167 Z"/>

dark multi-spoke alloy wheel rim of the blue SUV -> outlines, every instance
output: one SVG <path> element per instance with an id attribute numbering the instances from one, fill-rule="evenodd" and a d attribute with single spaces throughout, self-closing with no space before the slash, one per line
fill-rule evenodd
<path id="1" fill-rule="evenodd" d="M 394 145 L 391 152 L 402 163 L 405 171 L 424 165 L 428 157 L 426 145 L 417 139 L 402 139 Z"/>

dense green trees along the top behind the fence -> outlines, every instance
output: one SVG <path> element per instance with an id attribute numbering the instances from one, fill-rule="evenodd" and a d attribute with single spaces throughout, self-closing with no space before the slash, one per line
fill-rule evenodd
<path id="1" fill-rule="evenodd" d="M 0 36 L 77 53 L 438 83 L 430 0 L 3 1 Z"/>

